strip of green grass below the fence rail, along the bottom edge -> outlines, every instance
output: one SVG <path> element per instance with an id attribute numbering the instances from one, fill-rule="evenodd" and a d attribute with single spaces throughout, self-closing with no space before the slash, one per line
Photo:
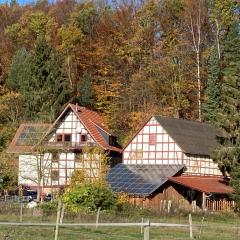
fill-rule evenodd
<path id="1" fill-rule="evenodd" d="M 199 231 L 194 229 L 194 239 L 198 239 Z M 188 239 L 187 229 L 151 228 L 150 239 Z M 42 240 L 54 239 L 54 228 L 49 227 L 1 227 L 0 239 L 14 240 Z M 135 240 L 143 239 L 140 228 L 60 228 L 59 240 Z M 201 239 L 204 240 L 233 240 L 240 239 L 240 233 L 229 227 L 203 228 Z"/>

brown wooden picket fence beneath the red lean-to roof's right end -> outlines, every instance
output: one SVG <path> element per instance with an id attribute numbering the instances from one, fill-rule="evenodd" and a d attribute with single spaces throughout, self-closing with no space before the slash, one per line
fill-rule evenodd
<path id="1" fill-rule="evenodd" d="M 227 200 L 207 199 L 206 206 L 207 206 L 207 210 L 211 212 L 220 212 L 220 211 L 229 212 L 234 208 L 235 202 L 227 201 Z"/>

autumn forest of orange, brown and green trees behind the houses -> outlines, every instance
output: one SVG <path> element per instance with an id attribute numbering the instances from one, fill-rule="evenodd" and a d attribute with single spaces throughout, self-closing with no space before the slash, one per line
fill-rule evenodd
<path id="1" fill-rule="evenodd" d="M 239 183 L 237 0 L 38 0 L 0 4 L 0 175 L 23 122 L 52 122 L 78 103 L 124 145 L 151 115 L 207 121 L 224 132 L 213 153 Z M 2 184 L 2 183 L 1 183 Z M 240 193 L 240 189 L 239 189 Z"/>

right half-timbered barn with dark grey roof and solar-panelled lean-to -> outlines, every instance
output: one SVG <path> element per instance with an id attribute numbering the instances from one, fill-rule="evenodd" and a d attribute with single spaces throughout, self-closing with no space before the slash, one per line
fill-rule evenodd
<path id="1" fill-rule="evenodd" d="M 159 210 L 172 204 L 210 208 L 228 199 L 232 188 L 210 155 L 219 132 L 206 123 L 151 117 L 123 149 L 123 161 L 110 170 L 116 192 Z"/>

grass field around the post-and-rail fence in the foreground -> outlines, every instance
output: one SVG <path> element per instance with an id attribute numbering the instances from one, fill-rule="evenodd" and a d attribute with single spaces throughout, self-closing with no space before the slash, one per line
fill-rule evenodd
<path id="1" fill-rule="evenodd" d="M 161 223 L 188 224 L 187 214 L 158 215 L 150 214 L 143 216 L 145 220 Z M 203 214 L 192 215 L 194 239 L 204 240 L 237 240 L 240 239 L 240 217 L 233 214 L 208 214 L 204 215 L 204 224 L 200 234 L 200 225 Z M 23 222 L 51 222 L 54 223 L 56 214 L 35 216 L 34 214 L 23 215 Z M 68 223 L 94 223 L 96 216 L 67 214 L 64 222 Z M 18 211 L 9 214 L 1 211 L 1 222 L 19 222 Z M 121 215 L 101 213 L 100 222 L 141 222 L 140 215 Z M 238 228 L 239 227 L 239 228 Z M 23 227 L 23 226 L 0 226 L 0 240 L 49 240 L 54 239 L 54 227 Z M 59 240 L 139 240 L 143 239 L 140 227 L 60 227 Z M 189 239 L 188 228 L 151 227 L 150 240 L 180 240 Z"/>

